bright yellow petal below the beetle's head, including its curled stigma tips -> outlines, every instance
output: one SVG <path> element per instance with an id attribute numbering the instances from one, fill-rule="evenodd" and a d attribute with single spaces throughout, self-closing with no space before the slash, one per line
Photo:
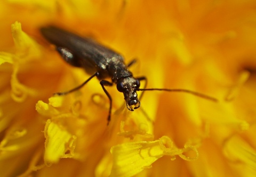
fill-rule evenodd
<path id="1" fill-rule="evenodd" d="M 155 141 L 137 141 L 117 145 L 110 150 L 113 155 L 110 176 L 133 176 L 151 167 L 151 164 L 164 155 L 171 156 L 172 160 L 175 159 L 175 155 L 179 155 L 186 161 L 194 161 L 198 158 L 197 147 L 198 145 L 189 145 L 188 142 L 185 148 L 179 149 L 167 136 Z M 196 153 L 195 157 L 190 158 L 182 154 L 190 150 Z"/>

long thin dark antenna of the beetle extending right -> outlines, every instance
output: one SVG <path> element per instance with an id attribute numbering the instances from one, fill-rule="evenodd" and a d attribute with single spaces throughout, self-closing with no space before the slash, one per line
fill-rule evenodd
<path id="1" fill-rule="evenodd" d="M 204 99 L 209 99 L 211 100 L 212 102 L 218 102 L 218 99 L 216 98 L 213 98 L 211 96 L 207 96 L 207 95 L 204 95 L 204 94 L 201 94 L 199 92 L 195 92 L 195 91 L 191 91 L 191 90 L 186 90 L 186 89 L 159 89 L 159 88 L 149 88 L 149 89 L 136 89 L 137 91 L 147 91 L 147 90 L 158 90 L 158 91 L 173 91 L 173 92 L 186 92 L 188 94 L 192 94 L 192 95 L 195 95 L 195 96 L 198 96 L 198 97 L 201 97 L 201 98 L 204 98 Z"/>

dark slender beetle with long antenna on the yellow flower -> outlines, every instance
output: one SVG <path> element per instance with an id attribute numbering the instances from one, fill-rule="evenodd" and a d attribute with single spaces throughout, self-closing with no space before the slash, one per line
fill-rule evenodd
<path id="1" fill-rule="evenodd" d="M 70 65 L 83 68 L 87 73 L 91 74 L 91 77 L 83 82 L 78 87 L 66 92 L 57 92 L 55 95 L 66 95 L 70 92 L 80 89 L 92 78 L 97 77 L 100 80 L 100 85 L 107 95 L 110 105 L 108 113 L 108 123 L 111 117 L 112 98 L 105 86 L 113 86 L 116 84 L 116 88 L 119 92 L 123 92 L 126 107 L 130 111 L 134 111 L 140 107 L 140 100 L 138 99 L 137 91 L 145 90 L 161 90 L 161 91 L 180 91 L 187 92 L 189 94 L 196 95 L 205 99 L 217 102 L 218 100 L 201 94 L 199 92 L 186 90 L 186 89 L 166 89 L 166 88 L 140 88 L 140 81 L 145 80 L 145 87 L 147 85 L 146 77 L 133 77 L 129 66 L 135 63 L 135 60 L 125 65 L 124 57 L 115 52 L 114 50 L 105 47 L 93 39 L 85 38 L 76 35 L 75 33 L 60 29 L 58 27 L 50 26 L 41 28 L 41 33 L 46 40 L 56 46 L 57 51 Z M 104 80 L 111 78 L 112 82 Z M 143 93 L 142 93 L 143 94 Z"/>

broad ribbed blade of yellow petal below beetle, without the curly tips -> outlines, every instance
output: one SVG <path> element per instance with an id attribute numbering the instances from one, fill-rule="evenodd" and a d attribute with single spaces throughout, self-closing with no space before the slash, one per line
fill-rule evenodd
<path id="1" fill-rule="evenodd" d="M 159 140 L 129 142 L 111 148 L 113 168 L 110 176 L 133 176 L 163 156 Z"/>

